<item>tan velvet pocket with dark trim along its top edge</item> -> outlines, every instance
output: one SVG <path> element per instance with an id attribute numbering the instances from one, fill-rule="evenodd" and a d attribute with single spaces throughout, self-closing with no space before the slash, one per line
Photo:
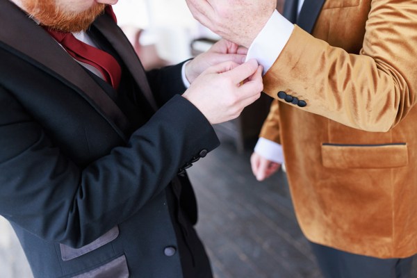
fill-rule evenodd
<path id="1" fill-rule="evenodd" d="M 408 164 L 407 144 L 322 144 L 322 164 L 327 168 L 393 168 Z"/>

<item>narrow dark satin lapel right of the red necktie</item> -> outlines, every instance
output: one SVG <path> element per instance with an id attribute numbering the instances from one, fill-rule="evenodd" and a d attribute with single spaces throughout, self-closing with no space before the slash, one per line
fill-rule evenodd
<path id="1" fill-rule="evenodd" d="M 140 63 L 131 42 L 126 38 L 123 31 L 113 22 L 113 19 L 107 15 L 101 15 L 97 18 L 94 22 L 94 26 L 96 26 L 101 34 L 106 37 L 117 51 L 117 54 L 120 55 L 120 58 L 122 58 L 126 67 L 131 71 L 133 79 L 138 83 L 143 95 L 145 95 L 149 104 L 154 108 L 154 111 L 156 111 L 158 106 L 156 106 L 154 95 L 152 95 L 151 88 L 149 87 L 145 70 Z"/>

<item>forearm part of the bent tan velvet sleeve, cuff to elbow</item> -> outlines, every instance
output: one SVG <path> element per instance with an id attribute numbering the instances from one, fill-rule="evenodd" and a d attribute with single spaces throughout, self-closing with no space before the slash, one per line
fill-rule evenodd
<path id="1" fill-rule="evenodd" d="M 382 60 L 347 54 L 299 28 L 284 51 L 264 76 L 264 92 L 302 99 L 304 111 L 357 129 L 387 131 L 414 105 L 415 85 Z"/>

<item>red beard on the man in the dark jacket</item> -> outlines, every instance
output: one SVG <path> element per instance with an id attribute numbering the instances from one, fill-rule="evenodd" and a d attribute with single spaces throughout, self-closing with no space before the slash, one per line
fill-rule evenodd
<path id="1" fill-rule="evenodd" d="M 55 0 L 27 0 L 23 2 L 29 15 L 38 19 L 42 26 L 63 32 L 87 30 L 92 22 L 104 13 L 104 8 L 106 8 L 106 4 L 95 3 L 88 10 L 74 13 L 58 7 Z"/>

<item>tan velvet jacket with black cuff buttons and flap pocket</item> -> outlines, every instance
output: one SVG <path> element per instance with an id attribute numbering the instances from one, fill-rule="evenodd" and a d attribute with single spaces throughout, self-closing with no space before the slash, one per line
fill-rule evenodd
<path id="1" fill-rule="evenodd" d="M 312 36 L 313 35 L 313 36 Z M 377 256 L 417 253 L 417 1 L 327 0 L 265 74 L 261 136 L 284 147 L 309 240 Z"/>

